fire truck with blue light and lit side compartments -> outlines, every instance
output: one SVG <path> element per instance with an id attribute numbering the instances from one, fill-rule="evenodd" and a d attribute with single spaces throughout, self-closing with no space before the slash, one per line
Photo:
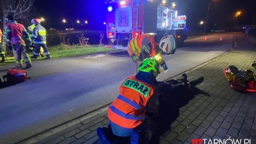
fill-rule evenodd
<path id="1" fill-rule="evenodd" d="M 105 0 L 107 37 L 111 48 L 127 49 L 128 42 L 144 33 L 173 35 L 178 44 L 187 38 L 186 16 L 177 16 L 169 0 Z M 122 45 L 122 46 L 120 46 Z"/>

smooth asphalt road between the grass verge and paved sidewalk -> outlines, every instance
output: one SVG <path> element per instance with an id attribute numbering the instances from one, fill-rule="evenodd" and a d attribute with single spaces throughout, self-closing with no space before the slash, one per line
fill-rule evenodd
<path id="1" fill-rule="evenodd" d="M 169 71 L 163 81 L 185 72 L 231 48 L 233 35 L 212 34 L 185 41 L 174 55 L 164 55 Z M 222 41 L 220 41 L 222 37 Z M 33 62 L 28 69 L 31 80 L 0 89 L 0 144 L 18 142 L 74 117 L 109 104 L 119 85 L 135 72 L 126 52 L 88 55 Z M 6 74 L 14 64 L 2 66 Z M 207 78 L 206 78 L 207 79 Z"/>

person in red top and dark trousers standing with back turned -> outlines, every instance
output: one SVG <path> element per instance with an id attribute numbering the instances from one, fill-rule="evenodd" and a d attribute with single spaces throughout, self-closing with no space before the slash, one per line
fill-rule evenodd
<path id="1" fill-rule="evenodd" d="M 31 67 L 31 60 L 28 57 L 28 54 L 25 52 L 25 41 L 22 39 L 24 36 L 27 43 L 31 43 L 27 30 L 22 24 L 18 24 L 18 22 L 15 21 L 13 15 L 8 15 L 7 18 L 9 20 L 9 24 L 7 25 L 6 29 L 6 45 L 14 54 L 16 67 L 22 68 L 22 58 L 26 63 L 25 68 L 28 69 Z"/>

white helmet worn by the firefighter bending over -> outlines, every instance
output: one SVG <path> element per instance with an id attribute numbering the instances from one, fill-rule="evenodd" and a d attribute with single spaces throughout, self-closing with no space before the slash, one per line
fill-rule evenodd
<path id="1" fill-rule="evenodd" d="M 163 52 L 165 52 L 165 54 L 174 54 L 176 50 L 176 42 L 174 37 L 171 35 L 164 36 L 160 41 L 159 47 Z"/>

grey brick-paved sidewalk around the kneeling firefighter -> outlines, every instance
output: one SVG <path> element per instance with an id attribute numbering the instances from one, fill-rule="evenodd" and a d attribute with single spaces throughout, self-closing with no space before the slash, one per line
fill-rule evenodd
<path id="1" fill-rule="evenodd" d="M 189 80 L 204 76 L 205 80 L 197 88 L 210 96 L 196 95 L 180 108 L 171 129 L 160 137 L 160 144 L 192 144 L 192 139 L 198 138 L 208 141 L 250 138 L 251 144 L 256 144 L 256 93 L 234 91 L 223 74 L 223 68 L 229 65 L 255 72 L 251 63 L 256 61 L 256 42 L 246 37 L 237 37 L 237 40 L 238 47 L 186 72 Z M 100 144 L 96 129 L 108 124 L 106 109 L 101 108 L 20 144 Z"/>

